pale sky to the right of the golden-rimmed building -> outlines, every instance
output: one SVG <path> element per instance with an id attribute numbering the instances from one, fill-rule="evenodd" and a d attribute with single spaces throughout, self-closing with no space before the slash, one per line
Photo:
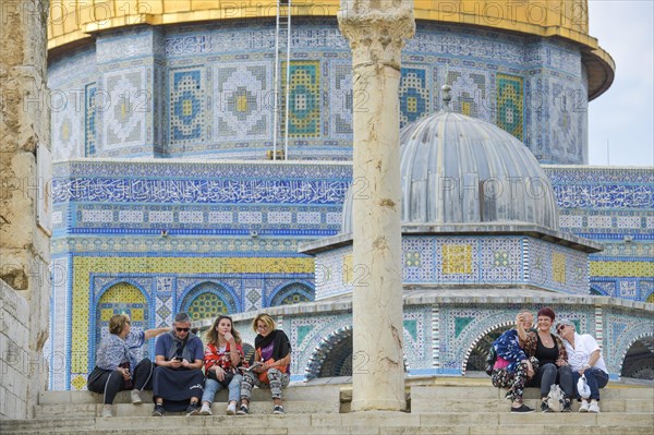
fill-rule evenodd
<path id="1" fill-rule="evenodd" d="M 654 0 L 589 0 L 589 24 L 616 62 L 589 105 L 590 164 L 654 167 Z"/>

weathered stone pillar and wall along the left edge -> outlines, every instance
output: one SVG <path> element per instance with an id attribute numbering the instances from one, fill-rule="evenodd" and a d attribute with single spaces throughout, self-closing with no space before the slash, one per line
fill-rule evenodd
<path id="1" fill-rule="evenodd" d="M 0 2 L 0 420 L 31 416 L 48 373 L 47 7 Z"/>

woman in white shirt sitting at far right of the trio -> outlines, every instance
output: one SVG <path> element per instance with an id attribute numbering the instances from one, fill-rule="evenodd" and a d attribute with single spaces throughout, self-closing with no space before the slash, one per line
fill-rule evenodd
<path id="1" fill-rule="evenodd" d="M 581 399 L 579 412 L 600 413 L 600 388 L 608 384 L 608 370 L 600 345 L 590 334 L 577 334 L 574 324 L 570 321 L 559 321 L 556 324 L 556 333 L 564 339 L 564 346 L 568 352 L 568 361 L 572 368 L 572 385 L 577 385 L 581 376 L 585 376 L 591 396 L 582 398 L 578 394 L 577 399 Z M 591 399 L 589 402 L 588 399 Z"/>

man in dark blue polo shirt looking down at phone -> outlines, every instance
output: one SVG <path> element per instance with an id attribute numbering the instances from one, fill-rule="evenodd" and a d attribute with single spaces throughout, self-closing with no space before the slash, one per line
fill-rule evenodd
<path id="1" fill-rule="evenodd" d="M 191 333 L 191 317 L 186 313 L 174 316 L 172 330 L 157 339 L 153 416 L 162 416 L 164 411 L 184 411 L 186 415 L 199 412 L 199 398 L 204 391 L 202 373 L 204 345 Z"/>

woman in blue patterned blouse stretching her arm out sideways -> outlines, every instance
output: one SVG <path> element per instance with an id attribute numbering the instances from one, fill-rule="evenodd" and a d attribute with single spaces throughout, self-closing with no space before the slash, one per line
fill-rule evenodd
<path id="1" fill-rule="evenodd" d="M 96 366 L 88 375 L 89 391 L 105 395 L 102 416 L 111 416 L 111 404 L 120 390 L 131 389 L 132 403 L 142 403 L 141 391 L 153 389 L 154 364 L 147 358 L 138 361 L 136 351 L 146 340 L 169 328 L 147 329 L 132 334 L 126 314 L 114 314 L 109 319 L 109 334 L 98 346 Z"/>

